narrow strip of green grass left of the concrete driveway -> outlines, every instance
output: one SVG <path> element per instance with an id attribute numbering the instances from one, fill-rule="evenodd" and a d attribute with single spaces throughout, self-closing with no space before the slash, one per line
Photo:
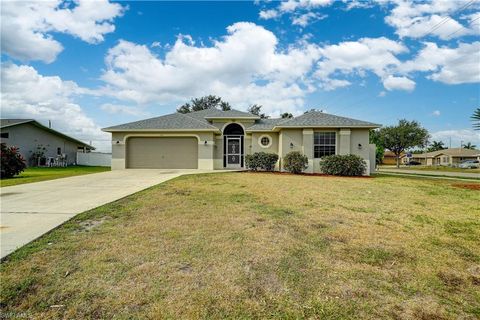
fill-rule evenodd
<path id="1" fill-rule="evenodd" d="M 20 175 L 9 179 L 1 179 L 0 187 L 14 186 L 17 184 L 53 180 L 82 174 L 110 171 L 109 167 L 71 166 L 66 168 L 27 168 Z"/>

